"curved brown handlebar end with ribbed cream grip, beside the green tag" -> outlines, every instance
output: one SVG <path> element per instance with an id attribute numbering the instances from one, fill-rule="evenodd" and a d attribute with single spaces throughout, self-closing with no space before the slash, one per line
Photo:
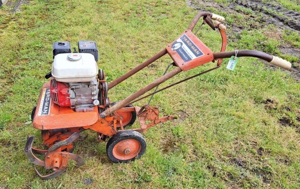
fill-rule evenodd
<path id="1" fill-rule="evenodd" d="M 228 52 L 221 52 L 221 53 L 213 53 L 214 59 L 223 59 L 223 58 L 230 58 L 231 56 L 235 56 L 235 51 L 228 51 Z M 270 62 L 271 64 L 278 66 L 280 68 L 289 70 L 292 67 L 291 62 L 286 61 L 282 58 L 279 58 L 277 56 L 269 55 L 267 53 L 258 51 L 258 50 L 239 50 L 237 57 L 242 56 L 251 56 L 256 57 L 259 59 L 263 59 L 267 62 Z"/>

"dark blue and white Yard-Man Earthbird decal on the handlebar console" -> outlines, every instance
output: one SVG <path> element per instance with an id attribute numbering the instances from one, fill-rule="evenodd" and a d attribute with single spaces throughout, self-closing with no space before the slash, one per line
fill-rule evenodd
<path id="1" fill-rule="evenodd" d="M 172 44 L 171 50 L 176 50 L 184 62 L 188 62 L 204 55 L 204 53 L 202 53 L 202 51 L 185 34 Z"/>

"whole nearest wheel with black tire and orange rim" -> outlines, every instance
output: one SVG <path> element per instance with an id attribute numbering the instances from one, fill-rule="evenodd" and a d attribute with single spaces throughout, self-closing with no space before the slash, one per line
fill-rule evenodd
<path id="1" fill-rule="evenodd" d="M 107 157 L 115 163 L 127 163 L 140 158 L 146 151 L 146 141 L 141 133 L 127 130 L 110 138 L 106 145 Z"/>

